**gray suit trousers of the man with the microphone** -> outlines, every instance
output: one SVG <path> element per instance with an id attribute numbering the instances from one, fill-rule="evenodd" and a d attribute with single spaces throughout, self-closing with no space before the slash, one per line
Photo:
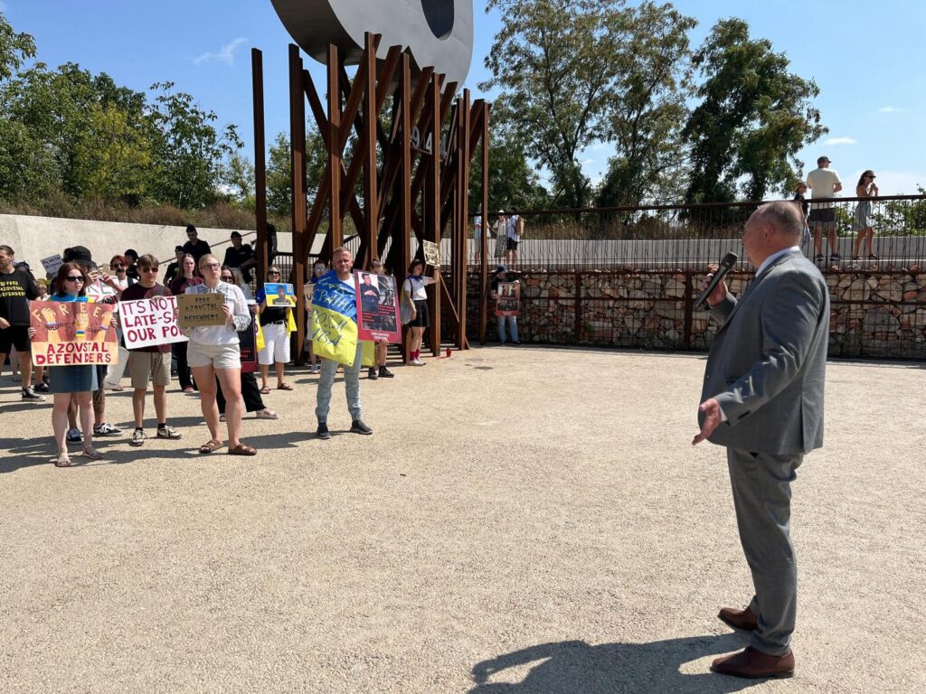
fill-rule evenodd
<path id="1" fill-rule="evenodd" d="M 756 595 L 750 646 L 770 655 L 791 649 L 797 613 L 797 564 L 791 544 L 791 483 L 804 456 L 727 449 L 736 526 Z"/>

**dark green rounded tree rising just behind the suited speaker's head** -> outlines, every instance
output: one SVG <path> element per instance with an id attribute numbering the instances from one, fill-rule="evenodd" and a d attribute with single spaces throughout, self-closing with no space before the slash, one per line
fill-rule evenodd
<path id="1" fill-rule="evenodd" d="M 688 202 L 761 200 L 785 192 L 803 167 L 797 152 L 828 130 L 812 104 L 813 81 L 788 71 L 788 58 L 752 39 L 742 19 L 722 19 L 694 54 L 706 78 L 683 136 L 691 147 Z"/>

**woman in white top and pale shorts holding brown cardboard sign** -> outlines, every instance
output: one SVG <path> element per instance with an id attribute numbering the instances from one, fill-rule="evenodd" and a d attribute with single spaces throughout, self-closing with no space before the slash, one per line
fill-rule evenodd
<path id="1" fill-rule="evenodd" d="M 201 453 L 218 451 L 222 447 L 219 437 L 219 406 L 216 404 L 216 378 L 228 405 L 225 410 L 229 431 L 229 452 L 232 455 L 254 455 L 257 451 L 241 441 L 241 352 L 238 331 L 251 325 L 244 294 L 233 284 L 221 281 L 221 264 L 215 255 L 206 254 L 199 259 L 199 273 L 203 284 L 187 287 L 186 294 L 222 294 L 225 323 L 220 326 L 186 328 L 190 338 L 187 361 L 193 378 L 199 386 L 200 404 L 210 439 L 199 447 Z"/>

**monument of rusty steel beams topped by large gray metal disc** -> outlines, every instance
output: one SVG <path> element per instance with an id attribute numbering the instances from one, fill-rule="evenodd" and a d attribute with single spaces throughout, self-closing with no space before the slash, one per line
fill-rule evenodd
<path id="1" fill-rule="evenodd" d="M 306 334 L 303 284 L 317 234 L 329 260 L 344 242 L 344 219 L 359 234 L 357 268 L 381 259 L 401 281 L 424 241 L 442 244 L 442 272 L 429 288 L 430 348 L 467 349 L 469 171 L 482 142 L 482 209 L 488 210 L 489 104 L 457 88 L 469 73 L 471 0 L 271 0 L 294 41 L 289 50 L 293 191 L 293 282 L 297 350 Z M 327 66 L 327 104 L 304 68 L 300 48 Z M 257 244 L 267 267 L 263 65 L 254 71 Z M 353 79 L 347 68 L 357 66 Z M 306 104 L 328 153 L 314 200 L 306 190 Z M 327 105 L 327 108 L 326 108 Z M 383 118 L 383 117 L 386 118 Z M 384 125 L 385 123 L 385 125 Z M 354 136 L 352 154 L 345 155 Z M 357 186 L 362 177 L 362 194 Z M 327 213 L 327 215 L 326 215 Z M 413 255 L 412 240 L 415 248 Z M 483 243 L 485 235 L 482 235 Z M 482 253 L 483 286 L 487 254 Z M 484 294 L 484 291 L 483 291 Z M 482 331 L 485 297 L 482 300 Z M 442 324 L 449 334 L 442 335 Z M 407 350 L 403 350 L 407 359 Z"/>

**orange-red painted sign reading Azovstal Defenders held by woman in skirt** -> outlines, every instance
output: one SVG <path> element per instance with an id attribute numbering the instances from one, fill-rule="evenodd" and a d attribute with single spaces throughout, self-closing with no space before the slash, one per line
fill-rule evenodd
<path id="1" fill-rule="evenodd" d="M 30 302 L 29 315 L 35 366 L 119 363 L 111 304 Z"/>

